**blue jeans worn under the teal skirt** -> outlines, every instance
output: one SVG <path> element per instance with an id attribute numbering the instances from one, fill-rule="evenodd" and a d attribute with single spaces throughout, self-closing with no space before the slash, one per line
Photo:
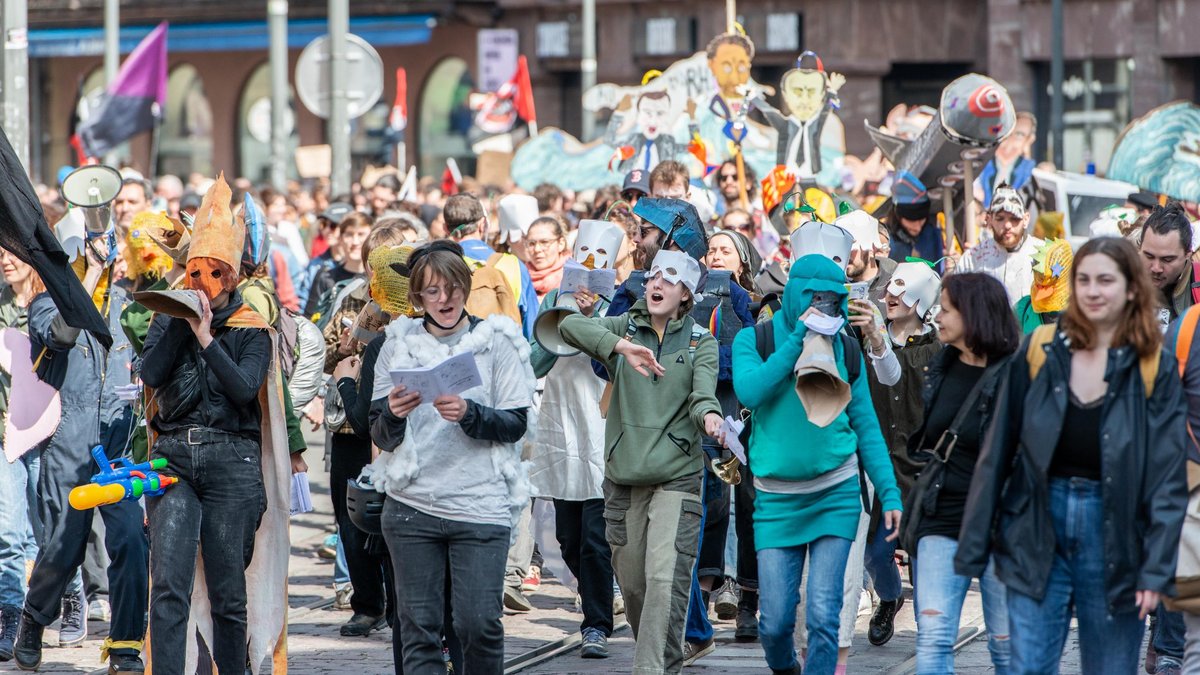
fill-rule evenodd
<path id="1" fill-rule="evenodd" d="M 758 639 L 767 665 L 776 670 L 796 667 L 796 605 L 800 602 L 804 556 L 809 571 L 805 622 L 809 631 L 806 675 L 826 675 L 838 667 L 838 627 L 841 623 L 846 560 L 853 542 L 821 537 L 802 546 L 758 551 Z"/>

